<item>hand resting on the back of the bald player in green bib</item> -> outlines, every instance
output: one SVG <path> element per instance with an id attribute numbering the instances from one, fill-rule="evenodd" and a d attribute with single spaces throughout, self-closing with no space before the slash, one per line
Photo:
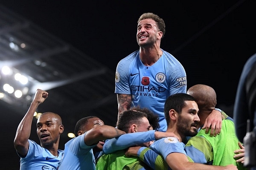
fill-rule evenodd
<path id="1" fill-rule="evenodd" d="M 205 133 L 209 133 L 210 129 L 210 136 L 217 136 L 217 134 L 220 134 L 221 132 L 221 125 L 221 112 L 214 109 L 212 110 L 212 113 L 207 116 L 202 129 L 205 129 Z"/>

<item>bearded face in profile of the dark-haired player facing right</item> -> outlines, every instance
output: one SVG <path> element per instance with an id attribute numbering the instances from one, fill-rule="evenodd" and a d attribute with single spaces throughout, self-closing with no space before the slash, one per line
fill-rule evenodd
<path id="1" fill-rule="evenodd" d="M 195 101 L 185 101 L 185 107 L 177 119 L 177 130 L 183 136 L 195 136 L 197 134 L 198 105 Z"/>

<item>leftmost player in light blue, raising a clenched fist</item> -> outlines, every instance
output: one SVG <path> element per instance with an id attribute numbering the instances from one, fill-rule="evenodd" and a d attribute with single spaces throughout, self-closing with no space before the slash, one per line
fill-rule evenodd
<path id="1" fill-rule="evenodd" d="M 29 110 L 17 127 L 14 147 L 20 156 L 21 170 L 39 170 L 43 167 L 56 169 L 62 158 L 63 150 L 59 150 L 58 146 L 64 126 L 58 114 L 52 112 L 41 114 L 37 120 L 37 135 L 40 145 L 29 140 L 34 113 L 47 97 L 47 91 L 37 89 Z"/>

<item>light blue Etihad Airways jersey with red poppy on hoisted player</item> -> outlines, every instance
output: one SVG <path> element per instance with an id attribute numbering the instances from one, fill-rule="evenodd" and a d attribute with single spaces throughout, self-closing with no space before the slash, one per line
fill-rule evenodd
<path id="1" fill-rule="evenodd" d="M 163 51 L 154 65 L 145 66 L 139 50 L 120 60 L 116 67 L 115 93 L 131 94 L 131 107 L 140 105 L 159 116 L 160 131 L 166 131 L 164 117 L 166 99 L 176 93 L 186 93 L 186 72 L 181 63 Z"/>

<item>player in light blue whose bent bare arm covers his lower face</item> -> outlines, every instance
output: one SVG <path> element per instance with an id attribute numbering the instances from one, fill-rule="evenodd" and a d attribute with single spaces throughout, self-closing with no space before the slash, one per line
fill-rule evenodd
<path id="1" fill-rule="evenodd" d="M 58 170 L 94 170 L 96 155 L 93 148 L 103 144 L 106 139 L 125 134 L 115 127 L 104 125 L 96 116 L 87 116 L 76 123 L 75 135 L 65 144 L 65 153 Z"/>

